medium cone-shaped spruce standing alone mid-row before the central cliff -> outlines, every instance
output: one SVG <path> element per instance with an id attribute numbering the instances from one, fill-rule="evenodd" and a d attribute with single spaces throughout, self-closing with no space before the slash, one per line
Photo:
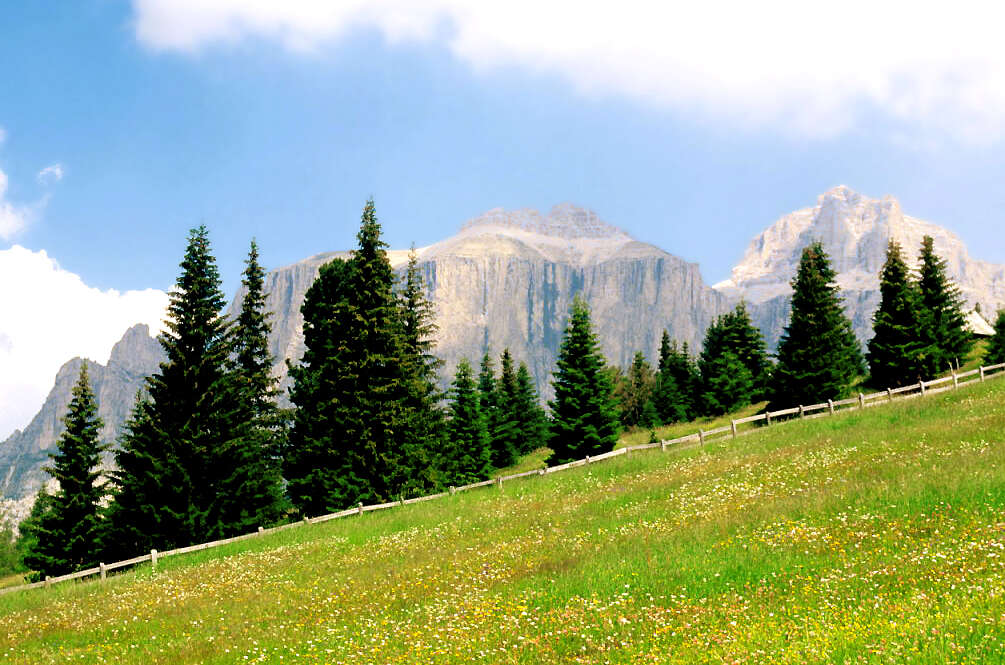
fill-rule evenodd
<path id="1" fill-rule="evenodd" d="M 614 449 L 619 432 L 618 411 L 605 366 L 590 322 L 590 309 L 581 296 L 576 296 L 552 383 L 555 400 L 550 403 L 551 447 L 555 462 Z"/>

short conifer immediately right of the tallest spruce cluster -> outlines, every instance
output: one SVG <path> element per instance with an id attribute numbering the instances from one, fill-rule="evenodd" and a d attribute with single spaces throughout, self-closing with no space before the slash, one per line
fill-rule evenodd
<path id="1" fill-rule="evenodd" d="M 442 484 L 466 485 L 483 480 L 491 470 L 491 448 L 467 360 L 457 364 L 449 399 L 447 435 L 437 459 Z"/>

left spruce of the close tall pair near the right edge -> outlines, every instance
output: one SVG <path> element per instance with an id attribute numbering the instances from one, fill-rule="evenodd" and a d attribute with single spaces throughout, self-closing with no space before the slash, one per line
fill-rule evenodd
<path id="1" fill-rule="evenodd" d="M 919 366 L 918 291 L 900 245 L 890 240 L 879 273 L 879 308 L 872 318 L 866 361 L 875 388 L 895 388 L 922 379 Z"/>

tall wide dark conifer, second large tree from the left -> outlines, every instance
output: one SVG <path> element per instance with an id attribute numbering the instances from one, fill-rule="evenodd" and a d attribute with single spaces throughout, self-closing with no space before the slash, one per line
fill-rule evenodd
<path id="1" fill-rule="evenodd" d="M 243 482 L 252 472 L 243 465 L 261 441 L 233 371 L 233 336 L 204 226 L 189 234 L 181 268 L 159 339 L 166 360 L 147 380 L 116 453 L 109 543 L 122 556 L 260 523 L 259 485 Z"/>

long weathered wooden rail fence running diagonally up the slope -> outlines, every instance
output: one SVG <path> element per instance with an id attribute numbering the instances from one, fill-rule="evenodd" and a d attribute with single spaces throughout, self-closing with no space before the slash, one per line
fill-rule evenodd
<path id="1" fill-rule="evenodd" d="M 377 503 L 374 505 L 359 505 L 341 510 L 339 512 L 333 512 L 327 515 L 321 515 L 319 517 L 305 517 L 303 521 L 290 522 L 287 524 L 281 524 L 279 526 L 273 526 L 271 528 L 258 527 L 257 531 L 252 533 L 245 533 L 244 535 L 237 535 L 232 538 L 223 538 L 222 540 L 213 540 L 211 542 L 200 542 L 199 544 L 188 545 L 187 547 L 179 547 L 177 549 L 169 549 L 168 551 L 158 551 L 152 549 L 149 555 L 143 555 L 142 557 L 135 557 L 133 559 L 127 559 L 126 561 L 116 562 L 115 564 L 98 564 L 95 568 L 90 568 L 85 571 L 78 571 L 76 573 L 71 573 L 69 575 L 62 575 L 55 578 L 46 577 L 42 582 L 36 582 L 30 585 L 20 585 L 18 587 L 7 587 L 5 589 L 0 589 L 0 595 L 9 594 L 12 592 L 24 591 L 27 589 L 36 589 L 39 587 L 50 587 L 54 584 L 60 582 L 68 582 L 70 580 L 79 580 L 81 578 L 87 578 L 91 576 L 99 576 L 100 580 L 105 580 L 106 576 L 111 571 L 117 571 L 119 569 L 129 568 L 131 566 L 137 566 L 138 564 L 144 564 L 150 562 L 151 567 L 156 571 L 157 563 L 166 557 L 176 557 L 178 555 L 185 555 L 191 551 L 199 551 L 201 549 L 210 549 L 212 547 L 219 547 L 221 545 L 230 544 L 231 542 L 239 542 L 241 540 L 246 540 L 248 538 L 258 537 L 266 533 L 272 533 L 275 531 L 281 531 L 286 528 L 294 528 L 296 526 L 301 526 L 304 524 L 317 524 L 319 522 L 325 522 L 332 519 L 339 519 L 341 517 L 349 517 L 351 515 L 362 515 L 364 512 L 372 512 L 374 510 L 385 510 L 388 508 L 393 508 L 395 506 L 407 505 L 409 503 L 420 503 L 422 501 L 431 501 L 433 499 L 443 498 L 445 496 L 450 496 L 457 492 L 464 492 L 471 489 L 476 489 L 478 487 L 487 487 L 489 485 L 495 485 L 501 488 L 502 483 L 510 482 L 512 480 L 517 480 L 518 478 L 526 478 L 529 476 L 539 476 L 547 475 L 550 473 L 556 473 L 558 471 L 565 471 L 566 469 L 575 468 L 577 466 L 585 466 L 587 464 L 593 464 L 594 462 L 600 462 L 605 459 L 610 459 L 612 457 L 618 457 L 619 455 L 628 455 L 634 451 L 638 450 L 652 450 L 659 448 L 660 450 L 666 450 L 667 448 L 673 447 L 674 449 L 689 448 L 695 445 L 703 445 L 711 440 L 715 439 L 725 439 L 725 438 L 736 438 L 741 434 L 747 434 L 748 432 L 739 432 L 738 427 L 747 423 L 759 423 L 764 422 L 765 426 L 778 425 L 788 420 L 797 420 L 801 418 L 820 418 L 823 416 L 831 416 L 838 411 L 848 411 L 856 409 L 867 409 L 870 407 L 881 406 L 883 404 L 888 404 L 890 402 L 906 400 L 915 397 L 923 397 L 925 395 L 936 395 L 938 393 L 944 393 L 951 390 L 958 390 L 961 386 L 972 383 L 982 383 L 988 378 L 1005 376 L 1002 370 L 1005 369 L 1005 363 L 1001 365 L 992 365 L 990 367 L 981 367 L 977 370 L 971 370 L 970 372 L 962 372 L 960 374 L 953 373 L 949 377 L 943 377 L 941 379 L 934 379 L 932 381 L 922 381 L 920 383 L 914 384 L 912 386 L 903 386 L 901 388 L 890 388 L 878 393 L 869 393 L 868 395 L 859 393 L 857 397 L 853 397 L 847 400 L 832 401 L 827 400 L 826 402 L 821 402 L 819 404 L 811 404 L 809 406 L 800 405 L 798 407 L 792 407 L 791 409 L 782 409 L 780 411 L 769 411 L 766 413 L 758 414 L 757 416 L 749 416 L 747 418 L 739 418 L 730 422 L 729 425 L 725 427 L 718 427 L 711 430 L 699 429 L 694 434 L 688 434 L 686 436 L 678 437 L 676 439 L 670 439 L 668 441 L 657 441 L 654 443 L 643 443 L 636 446 L 627 446 L 625 448 L 618 448 L 617 450 L 612 450 L 610 452 L 602 453 L 600 455 L 589 456 L 585 459 L 578 459 L 572 462 L 567 462 L 565 464 L 558 464 L 556 466 L 549 466 L 542 469 L 534 469 L 532 471 L 524 471 L 523 473 L 514 473 L 513 475 L 499 476 L 492 478 L 490 480 L 482 480 L 481 482 L 473 482 L 469 485 L 461 485 L 460 487 L 450 487 L 449 491 L 440 492 L 438 494 L 428 494 L 426 496 L 418 496 L 416 498 L 402 499 L 398 501 L 389 501 L 387 503 Z"/>

